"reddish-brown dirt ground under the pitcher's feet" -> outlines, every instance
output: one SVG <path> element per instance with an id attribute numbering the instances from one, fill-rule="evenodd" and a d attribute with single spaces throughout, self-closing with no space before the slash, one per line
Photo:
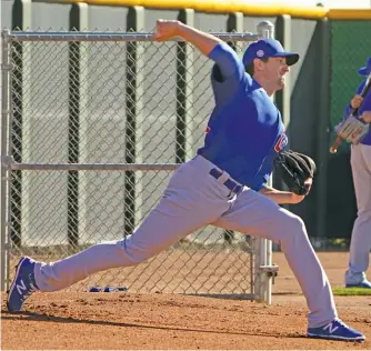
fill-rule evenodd
<path id="1" fill-rule="evenodd" d="M 333 287 L 343 284 L 345 252 L 321 252 Z M 2 293 L 2 350 L 370 350 L 371 297 L 335 297 L 339 315 L 363 343 L 305 338 L 308 312 L 282 253 L 272 305 L 168 293 L 56 292 L 32 295 L 9 313 Z M 130 290 L 129 290 L 130 291 Z"/>

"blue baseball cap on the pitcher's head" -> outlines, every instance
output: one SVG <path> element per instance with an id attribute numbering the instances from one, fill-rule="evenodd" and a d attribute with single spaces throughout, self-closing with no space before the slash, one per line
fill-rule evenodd
<path id="1" fill-rule="evenodd" d="M 287 52 L 275 39 L 261 39 L 252 42 L 244 51 L 242 62 L 248 67 L 254 59 L 285 58 L 288 66 L 298 62 L 299 53 Z"/>

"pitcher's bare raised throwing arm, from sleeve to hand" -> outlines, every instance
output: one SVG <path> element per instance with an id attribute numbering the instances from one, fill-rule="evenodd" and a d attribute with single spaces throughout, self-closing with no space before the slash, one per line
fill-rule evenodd
<path id="1" fill-rule="evenodd" d="M 180 21 L 158 20 L 154 29 L 154 39 L 157 41 L 166 41 L 173 37 L 182 37 L 207 57 L 214 49 L 214 47 L 221 42 L 219 38 L 193 27 L 183 24 Z"/>

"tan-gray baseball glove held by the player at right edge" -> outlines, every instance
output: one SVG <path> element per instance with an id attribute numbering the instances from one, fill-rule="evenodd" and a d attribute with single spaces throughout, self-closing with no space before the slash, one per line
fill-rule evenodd
<path id="1" fill-rule="evenodd" d="M 344 121 L 340 122 L 334 130 L 341 139 L 358 144 L 369 132 L 369 123 L 364 123 L 359 118 L 350 114 Z"/>

